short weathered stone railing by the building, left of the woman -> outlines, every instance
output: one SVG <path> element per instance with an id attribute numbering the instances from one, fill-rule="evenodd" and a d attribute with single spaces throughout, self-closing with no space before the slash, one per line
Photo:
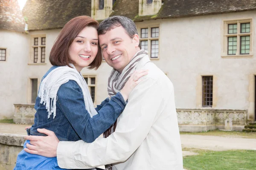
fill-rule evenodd
<path id="1" fill-rule="evenodd" d="M 15 112 L 13 122 L 17 124 L 34 124 L 35 108 L 34 105 L 17 105 L 15 106 Z"/>

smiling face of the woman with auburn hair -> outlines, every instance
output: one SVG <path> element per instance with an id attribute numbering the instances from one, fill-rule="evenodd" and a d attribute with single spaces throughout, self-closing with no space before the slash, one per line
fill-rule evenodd
<path id="1" fill-rule="evenodd" d="M 98 33 L 96 28 L 85 27 L 74 39 L 69 48 L 70 59 L 76 62 L 76 70 L 80 72 L 90 65 L 98 52 Z"/>

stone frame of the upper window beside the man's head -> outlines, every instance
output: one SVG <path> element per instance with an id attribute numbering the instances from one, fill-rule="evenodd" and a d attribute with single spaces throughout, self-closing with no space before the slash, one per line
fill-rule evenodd
<path id="1" fill-rule="evenodd" d="M 142 29 L 148 28 L 148 37 L 141 38 L 142 37 Z M 151 30 L 152 28 L 158 28 L 158 37 L 151 37 Z M 141 41 L 148 41 L 148 57 L 151 60 L 158 60 L 160 59 L 160 24 L 147 24 L 147 25 L 139 25 L 137 26 L 137 31 L 140 38 L 140 45 Z M 151 41 L 158 40 L 158 57 L 151 57 Z"/>

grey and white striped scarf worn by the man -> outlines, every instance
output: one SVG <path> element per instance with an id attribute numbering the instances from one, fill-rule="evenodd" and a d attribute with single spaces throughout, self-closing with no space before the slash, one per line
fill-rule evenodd
<path id="1" fill-rule="evenodd" d="M 108 78 L 109 96 L 114 96 L 117 92 L 122 90 L 122 88 L 125 86 L 125 83 L 130 78 L 130 74 L 136 70 L 137 63 L 143 57 L 148 57 L 148 52 L 145 50 L 138 51 L 128 63 L 128 65 L 126 65 L 126 67 L 123 69 L 122 73 L 119 73 L 119 71 L 113 68 L 110 77 Z M 107 138 L 116 130 L 116 123 L 117 122 L 115 122 L 111 127 L 108 128 L 108 130 L 103 133 L 105 138 Z M 112 170 L 112 164 L 105 165 L 105 170 Z"/>

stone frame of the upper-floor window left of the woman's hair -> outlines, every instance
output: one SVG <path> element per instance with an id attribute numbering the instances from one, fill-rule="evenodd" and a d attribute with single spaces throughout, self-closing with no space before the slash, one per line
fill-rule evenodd
<path id="1" fill-rule="evenodd" d="M 35 45 L 35 38 L 38 38 L 38 45 Z M 45 38 L 45 41 L 42 39 Z M 29 58 L 29 65 L 46 65 L 46 35 L 31 35 L 30 38 L 30 58 Z M 42 45 L 42 42 L 45 42 L 44 45 Z M 37 61 L 35 62 L 35 48 L 38 48 L 37 51 Z M 44 48 L 44 62 L 42 62 L 42 48 Z"/>

